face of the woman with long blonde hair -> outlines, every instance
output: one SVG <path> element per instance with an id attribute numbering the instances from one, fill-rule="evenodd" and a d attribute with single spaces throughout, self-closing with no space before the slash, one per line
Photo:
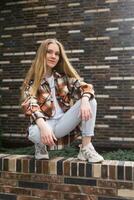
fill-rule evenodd
<path id="1" fill-rule="evenodd" d="M 60 49 L 56 43 L 50 43 L 46 53 L 46 65 L 53 68 L 57 65 L 60 57 Z"/>

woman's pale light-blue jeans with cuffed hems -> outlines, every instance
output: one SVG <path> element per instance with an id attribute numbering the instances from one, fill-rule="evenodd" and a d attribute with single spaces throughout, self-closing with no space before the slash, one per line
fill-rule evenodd
<path id="1" fill-rule="evenodd" d="M 92 118 L 87 121 L 82 121 L 79 116 L 81 100 L 78 100 L 67 112 L 63 114 L 61 118 L 46 120 L 52 128 L 56 138 L 62 138 L 65 135 L 68 135 L 80 123 L 82 136 L 94 136 L 97 102 L 95 99 L 92 99 L 89 102 L 92 110 Z M 29 127 L 28 138 L 33 143 L 41 143 L 40 129 L 36 124 Z"/>

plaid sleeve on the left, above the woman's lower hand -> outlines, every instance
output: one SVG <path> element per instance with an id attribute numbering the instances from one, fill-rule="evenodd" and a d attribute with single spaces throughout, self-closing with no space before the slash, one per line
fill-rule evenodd
<path id="1" fill-rule="evenodd" d="M 38 104 L 37 97 L 30 94 L 31 89 L 32 86 L 28 85 L 24 91 L 24 100 L 21 103 L 22 110 L 26 116 L 31 117 L 32 121 L 36 121 L 38 118 L 45 119 Z"/>

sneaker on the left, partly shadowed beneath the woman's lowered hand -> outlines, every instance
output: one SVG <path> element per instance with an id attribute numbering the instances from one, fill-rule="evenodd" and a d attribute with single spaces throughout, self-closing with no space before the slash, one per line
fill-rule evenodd
<path id="1" fill-rule="evenodd" d="M 35 144 L 35 159 L 49 159 L 46 145 L 40 143 Z"/>

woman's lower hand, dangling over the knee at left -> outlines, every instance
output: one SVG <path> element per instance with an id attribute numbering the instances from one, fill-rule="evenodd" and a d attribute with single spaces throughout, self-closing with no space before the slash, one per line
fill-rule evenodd
<path id="1" fill-rule="evenodd" d="M 51 127 L 44 121 L 43 118 L 39 118 L 36 120 L 38 127 L 41 132 L 41 142 L 48 146 L 55 145 L 54 140 L 57 141 Z"/>

